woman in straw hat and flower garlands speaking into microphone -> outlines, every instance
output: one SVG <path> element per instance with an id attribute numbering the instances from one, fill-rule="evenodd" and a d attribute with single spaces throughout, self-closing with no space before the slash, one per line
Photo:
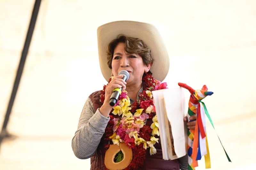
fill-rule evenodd
<path id="1" fill-rule="evenodd" d="M 76 157 L 91 157 L 91 169 L 188 169 L 187 157 L 162 158 L 151 91 L 166 77 L 169 57 L 156 28 L 134 21 L 111 22 L 98 28 L 98 47 L 101 72 L 108 85 L 93 92 L 84 104 L 72 139 Z M 127 81 L 118 75 L 121 70 L 129 72 Z M 109 100 L 115 88 L 123 92 L 112 107 Z M 187 125 L 195 128 L 195 122 Z M 115 146 L 124 146 L 124 153 L 114 153 Z"/>

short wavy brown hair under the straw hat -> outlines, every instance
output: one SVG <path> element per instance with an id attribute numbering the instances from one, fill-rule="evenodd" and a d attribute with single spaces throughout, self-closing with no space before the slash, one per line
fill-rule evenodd
<path id="1" fill-rule="evenodd" d="M 150 48 L 139 38 L 133 38 L 124 34 L 119 34 L 116 39 L 112 40 L 108 44 L 107 55 L 108 55 L 108 67 L 112 69 L 113 53 L 116 46 L 120 43 L 124 43 L 124 49 L 128 54 L 138 54 L 142 57 L 143 63 L 148 65 L 153 63 L 154 59 L 151 57 Z"/>

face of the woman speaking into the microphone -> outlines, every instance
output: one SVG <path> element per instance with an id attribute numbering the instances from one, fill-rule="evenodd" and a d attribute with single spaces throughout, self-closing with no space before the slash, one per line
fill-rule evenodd
<path id="1" fill-rule="evenodd" d="M 144 72 L 148 72 L 151 64 L 143 63 L 142 57 L 138 54 L 127 54 L 124 50 L 124 43 L 117 44 L 114 49 L 112 59 L 112 72 L 114 76 L 121 70 L 126 70 L 130 74 L 127 83 L 140 83 Z"/>

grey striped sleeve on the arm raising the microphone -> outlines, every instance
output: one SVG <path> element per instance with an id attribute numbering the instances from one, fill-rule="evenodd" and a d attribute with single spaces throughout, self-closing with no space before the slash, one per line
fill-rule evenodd
<path id="1" fill-rule="evenodd" d="M 107 127 L 109 117 L 101 115 L 99 108 L 95 111 L 92 100 L 88 98 L 79 118 L 78 128 L 72 139 L 72 149 L 79 159 L 88 159 L 96 151 L 100 139 Z"/>

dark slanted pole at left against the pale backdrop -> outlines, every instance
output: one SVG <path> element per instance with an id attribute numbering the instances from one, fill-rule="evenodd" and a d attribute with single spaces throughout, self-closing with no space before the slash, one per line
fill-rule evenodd
<path id="1" fill-rule="evenodd" d="M 24 47 L 23 47 L 23 51 L 22 51 L 21 57 L 20 57 L 20 64 L 19 64 L 19 67 L 18 67 L 18 70 L 17 70 L 16 78 L 15 78 L 14 85 L 13 85 L 13 88 L 12 88 L 11 98 L 9 100 L 8 108 L 7 108 L 7 111 L 6 111 L 6 114 L 5 114 L 5 118 L 4 118 L 2 131 L 1 131 L 1 134 L 0 134 L 0 145 L 1 145 L 2 140 L 5 137 L 9 136 L 9 134 L 6 131 L 6 127 L 7 127 L 8 121 L 9 121 L 9 117 L 11 115 L 14 99 L 15 99 L 15 96 L 16 96 L 16 93 L 17 93 L 17 90 L 18 90 L 18 87 L 19 87 L 19 84 L 20 84 L 20 78 L 21 78 L 22 71 L 23 71 L 23 68 L 24 68 L 24 64 L 25 64 L 25 61 L 26 61 L 26 57 L 27 57 L 27 54 L 28 54 L 28 48 L 29 48 L 29 45 L 30 45 L 30 41 L 31 41 L 31 38 L 32 38 L 32 35 L 33 35 L 33 32 L 34 32 L 35 25 L 36 25 L 36 18 L 37 18 L 37 14 L 38 14 L 38 11 L 39 11 L 40 4 L 41 4 L 41 0 L 36 0 L 35 1 L 34 9 L 33 9 L 31 20 L 30 20 L 30 24 L 29 24 L 29 27 L 28 27 L 27 37 L 26 37 Z"/>

